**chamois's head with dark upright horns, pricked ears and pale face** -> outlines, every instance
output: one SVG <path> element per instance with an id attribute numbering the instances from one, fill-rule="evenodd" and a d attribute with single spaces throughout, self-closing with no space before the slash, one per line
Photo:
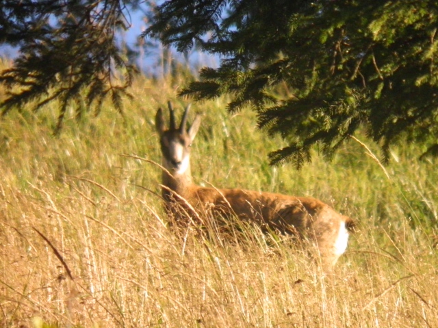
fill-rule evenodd
<path id="1" fill-rule="evenodd" d="M 163 165 L 171 174 L 184 174 L 190 167 L 190 147 L 201 125 L 201 116 L 196 115 L 192 126 L 187 128 L 187 115 L 190 105 L 185 107 L 179 127 L 175 124 L 175 113 L 172 104 L 168 102 L 170 124 L 166 129 L 162 109 L 155 115 L 155 127 L 159 134 L 159 143 L 163 154 Z"/>

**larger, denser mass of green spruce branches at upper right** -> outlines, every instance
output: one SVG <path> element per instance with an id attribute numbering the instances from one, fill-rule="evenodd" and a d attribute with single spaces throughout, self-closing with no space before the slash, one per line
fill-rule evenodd
<path id="1" fill-rule="evenodd" d="M 385 160 L 400 141 L 437 153 L 437 27 L 433 0 L 171 0 L 144 36 L 219 54 L 220 67 L 181 94 L 231 94 L 229 111 L 250 106 L 259 127 L 287 139 L 272 163 L 301 167 L 358 128 Z"/>

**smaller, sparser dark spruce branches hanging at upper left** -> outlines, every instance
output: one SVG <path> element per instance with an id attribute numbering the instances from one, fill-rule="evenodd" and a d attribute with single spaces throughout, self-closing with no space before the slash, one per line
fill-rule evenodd
<path id="1" fill-rule="evenodd" d="M 99 113 L 105 97 L 122 113 L 135 66 L 116 44 L 140 0 L 2 0 L 0 43 L 19 47 L 14 66 L 0 74 L 10 88 L 2 113 L 36 102 L 35 110 L 60 100 L 57 130 L 68 106 L 80 116 Z M 122 77 L 115 74 L 123 74 Z"/>

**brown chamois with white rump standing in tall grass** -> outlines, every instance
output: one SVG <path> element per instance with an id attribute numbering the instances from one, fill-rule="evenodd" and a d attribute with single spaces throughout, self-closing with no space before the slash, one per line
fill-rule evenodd
<path id="1" fill-rule="evenodd" d="M 245 189 L 216 189 L 194 184 L 190 172 L 190 147 L 201 125 L 201 116 L 196 115 L 192 126 L 187 128 L 188 106 L 177 127 L 170 102 L 168 107 L 169 128 L 166 128 L 161 108 L 155 116 L 163 155 L 162 196 L 168 212 L 182 220 L 188 219 L 194 210 L 196 215 L 210 213 L 210 216 L 220 219 L 235 215 L 256 223 L 262 230 L 278 230 L 307 238 L 318 247 L 324 263 L 333 265 L 337 262 L 346 250 L 352 219 L 312 197 Z"/>

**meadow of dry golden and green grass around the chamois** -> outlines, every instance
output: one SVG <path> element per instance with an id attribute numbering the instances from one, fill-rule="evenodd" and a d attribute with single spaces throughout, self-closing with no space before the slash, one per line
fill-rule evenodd
<path id="1" fill-rule="evenodd" d="M 110 104 L 71 113 L 56 137 L 55 104 L 0 121 L 1 327 L 438 327 L 438 172 L 418 161 L 422 146 L 400 145 L 382 166 L 357 135 L 330 163 L 315 151 L 300 171 L 270 167 L 285 143 L 253 113 L 194 103 L 198 184 L 317 197 L 357 231 L 330 273 L 257 228 L 181 238 L 150 161 L 161 161 L 157 108 L 182 109 L 184 82 L 138 77 L 124 117 Z"/>

